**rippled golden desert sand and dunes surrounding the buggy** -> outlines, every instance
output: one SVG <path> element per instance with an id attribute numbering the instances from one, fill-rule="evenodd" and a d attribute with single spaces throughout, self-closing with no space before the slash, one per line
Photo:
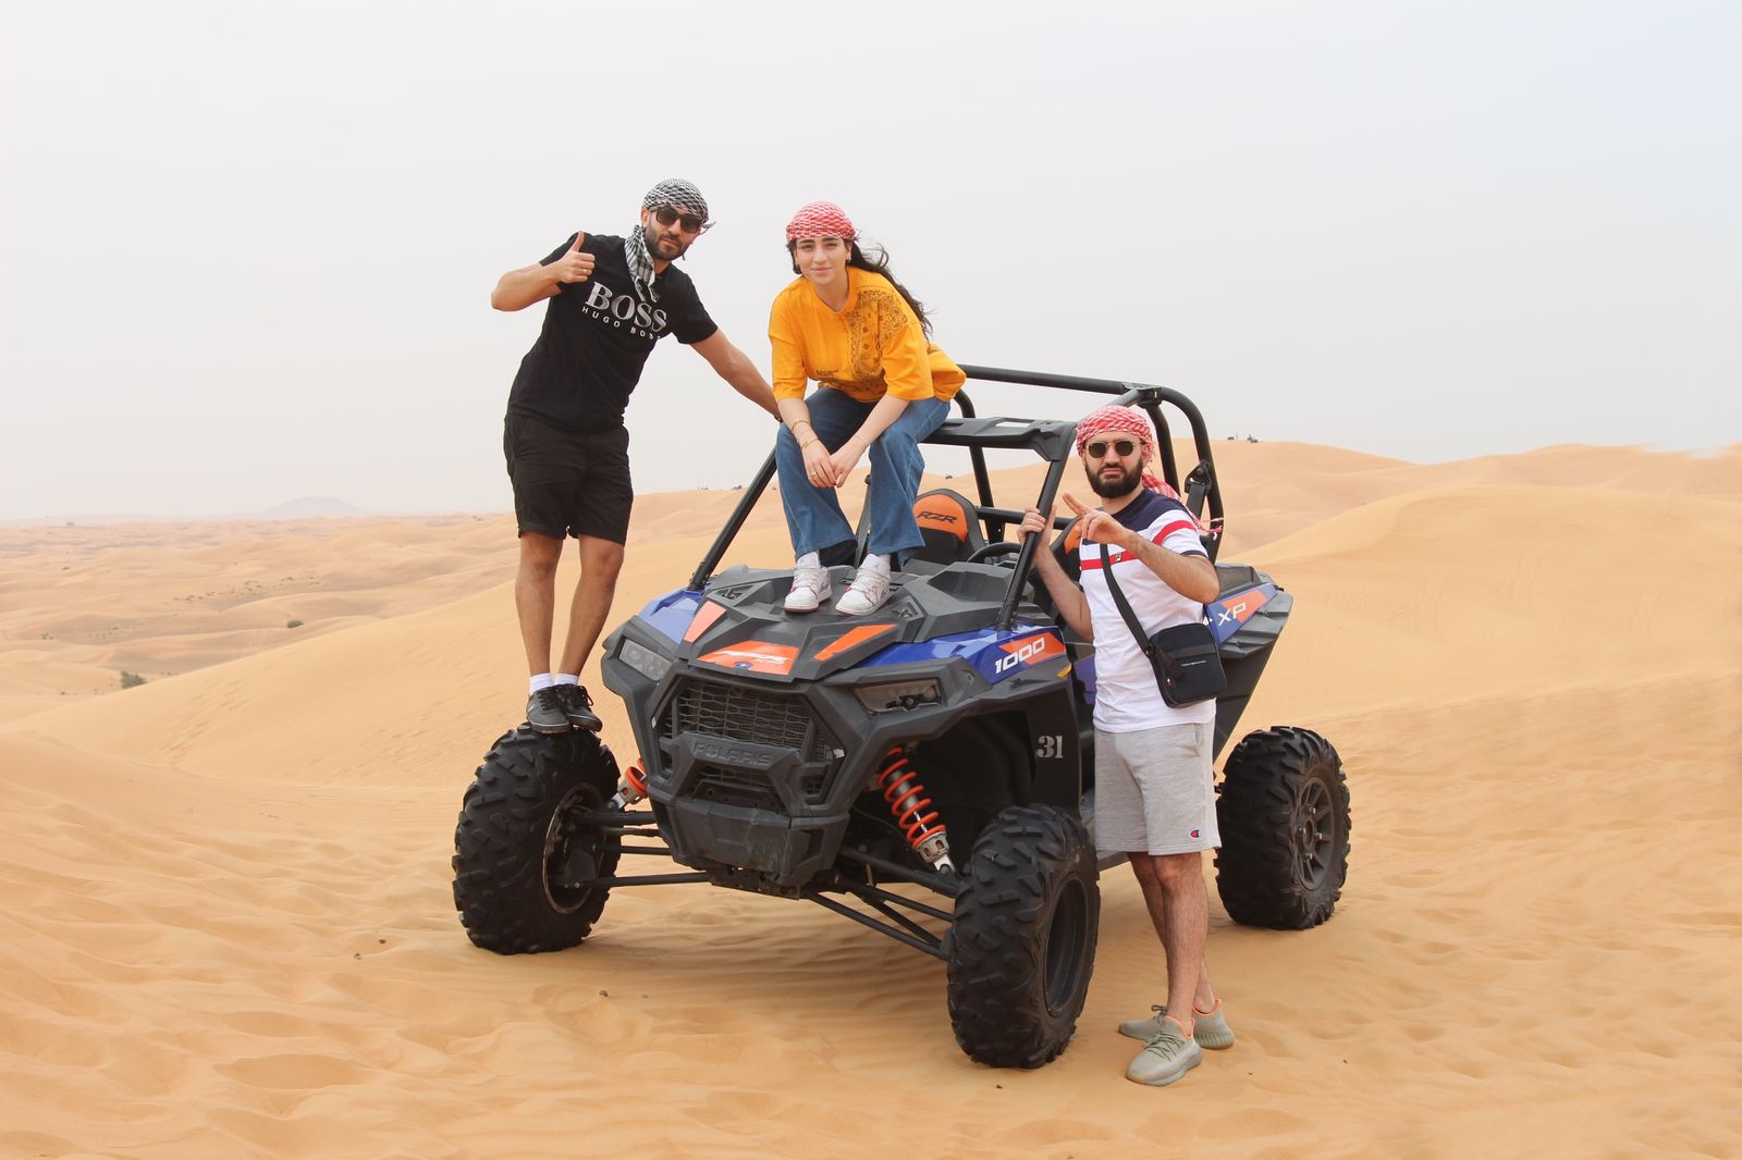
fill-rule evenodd
<path id="1" fill-rule="evenodd" d="M 1212 895 L 1240 1040 L 1165 1090 L 1122 1080 L 1164 988 L 1124 869 L 1033 1073 L 814 906 L 618 892 L 573 951 L 472 948 L 512 516 L 0 529 L 0 1157 L 1742 1155 L 1742 446 L 1214 451 L 1223 559 L 1296 594 L 1242 725 L 1338 745 L 1354 853 L 1312 932 Z M 737 498 L 641 496 L 611 624 Z M 732 559 L 787 559 L 777 496 Z"/>

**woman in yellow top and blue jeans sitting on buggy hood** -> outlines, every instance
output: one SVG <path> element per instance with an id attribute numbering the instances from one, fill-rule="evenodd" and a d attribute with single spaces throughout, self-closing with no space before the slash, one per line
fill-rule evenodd
<path id="1" fill-rule="evenodd" d="M 967 376 L 928 341 L 925 308 L 859 247 L 859 232 L 834 202 L 803 206 L 786 226 L 798 277 L 768 312 L 780 500 L 793 535 L 787 611 L 829 599 L 820 552 L 852 545 L 836 488 L 869 455 L 866 510 L 871 535 L 852 585 L 834 606 L 861 615 L 888 599 L 890 571 L 923 543 L 913 517 L 925 460 L 920 441 L 949 415 Z M 805 397 L 805 383 L 817 390 Z"/>

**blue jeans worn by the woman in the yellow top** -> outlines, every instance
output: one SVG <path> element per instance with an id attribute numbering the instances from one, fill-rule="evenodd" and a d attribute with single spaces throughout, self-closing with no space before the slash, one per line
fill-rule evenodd
<path id="1" fill-rule="evenodd" d="M 876 406 L 859 402 L 833 387 L 812 392 L 805 404 L 810 408 L 810 428 L 829 451 L 840 451 Z M 920 495 L 920 474 L 925 470 L 920 441 L 937 430 L 948 415 L 949 404 L 942 399 L 916 399 L 871 444 L 871 495 L 866 496 L 871 540 L 866 550 L 895 556 L 897 568 L 902 552 L 911 552 L 925 542 L 920 536 L 920 524 L 913 519 L 913 502 Z M 854 529 L 841 514 L 834 488 L 810 482 L 798 439 L 786 427 L 775 437 L 773 460 L 780 475 L 786 528 L 793 535 L 793 554 L 820 552 L 850 542 Z"/>

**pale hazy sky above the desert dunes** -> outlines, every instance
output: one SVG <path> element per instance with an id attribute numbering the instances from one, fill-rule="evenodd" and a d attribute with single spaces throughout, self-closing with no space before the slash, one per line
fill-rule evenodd
<path id="1" fill-rule="evenodd" d="M 665 176 L 765 371 L 827 197 L 958 361 L 1218 435 L 1735 442 L 1739 59 L 1732 2 L 5 3 L 0 517 L 507 510 L 490 289 Z M 676 340 L 629 428 L 641 491 L 773 437 Z"/>

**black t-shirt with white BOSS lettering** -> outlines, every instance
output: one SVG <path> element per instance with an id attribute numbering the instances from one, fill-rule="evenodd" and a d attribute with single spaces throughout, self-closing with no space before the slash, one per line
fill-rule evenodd
<path id="1" fill-rule="evenodd" d="M 540 265 L 573 244 L 570 233 Z M 658 301 L 646 301 L 636 294 L 624 239 L 592 233 L 580 251 L 594 256 L 592 277 L 566 282 L 547 300 L 544 329 L 509 392 L 509 411 L 577 435 L 622 425 L 629 392 L 660 338 L 676 334 L 688 345 L 719 329 L 683 270 L 665 266 L 653 279 Z"/>

